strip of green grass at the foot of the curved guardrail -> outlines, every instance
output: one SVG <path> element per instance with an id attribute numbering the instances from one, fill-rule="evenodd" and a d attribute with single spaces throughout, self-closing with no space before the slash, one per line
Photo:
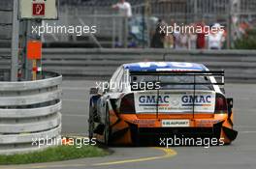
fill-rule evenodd
<path id="1" fill-rule="evenodd" d="M 104 156 L 109 153 L 95 146 L 58 146 L 22 155 L 0 155 L 0 165 L 52 162 L 82 157 Z"/>

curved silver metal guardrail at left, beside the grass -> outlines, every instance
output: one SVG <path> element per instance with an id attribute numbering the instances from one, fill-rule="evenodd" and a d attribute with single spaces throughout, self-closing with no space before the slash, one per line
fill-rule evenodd
<path id="1" fill-rule="evenodd" d="M 36 139 L 60 138 L 62 76 L 44 74 L 37 81 L 0 82 L 1 155 L 36 151 Z"/>

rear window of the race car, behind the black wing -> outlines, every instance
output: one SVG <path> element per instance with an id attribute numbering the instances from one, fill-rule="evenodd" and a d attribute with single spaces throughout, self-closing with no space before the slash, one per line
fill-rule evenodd
<path id="1" fill-rule="evenodd" d="M 194 86 L 195 83 L 195 86 Z M 133 86 L 137 85 L 137 88 Z M 186 89 L 186 90 L 213 90 L 209 77 L 204 75 L 132 75 L 132 90 L 150 90 L 153 89 L 170 90 L 170 89 Z"/>

